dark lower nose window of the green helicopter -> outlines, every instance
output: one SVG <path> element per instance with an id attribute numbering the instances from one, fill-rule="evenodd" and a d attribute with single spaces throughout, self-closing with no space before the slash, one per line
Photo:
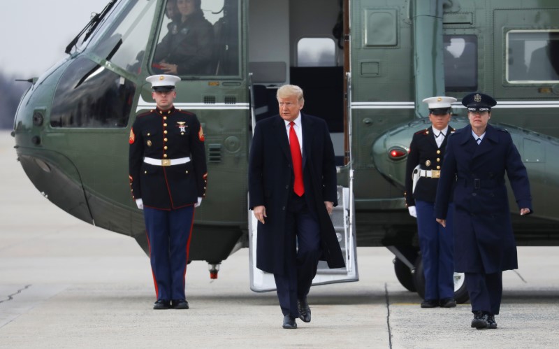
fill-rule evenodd
<path id="1" fill-rule="evenodd" d="M 136 85 L 87 58 L 77 58 L 61 77 L 50 113 L 51 127 L 126 127 Z"/>

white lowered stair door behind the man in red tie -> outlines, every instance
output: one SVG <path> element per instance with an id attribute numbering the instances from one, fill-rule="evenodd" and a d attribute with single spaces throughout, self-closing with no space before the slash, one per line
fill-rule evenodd
<path id="1" fill-rule="evenodd" d="M 312 285 L 325 285 L 328 283 L 347 283 L 359 280 L 356 264 L 356 238 L 354 224 L 354 201 L 350 189 L 338 185 L 337 197 L 340 203 L 334 208 L 331 219 L 340 242 L 342 255 L 345 259 L 345 268 L 330 269 L 325 261 L 320 261 L 317 275 L 312 280 Z M 256 218 L 249 211 L 249 260 L 250 260 L 250 289 L 255 292 L 275 290 L 274 275 L 256 268 Z"/>

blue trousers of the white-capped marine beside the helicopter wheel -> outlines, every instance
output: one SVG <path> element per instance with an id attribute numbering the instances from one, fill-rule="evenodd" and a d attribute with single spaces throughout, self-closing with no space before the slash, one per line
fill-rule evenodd
<path id="1" fill-rule="evenodd" d="M 416 200 L 415 207 L 425 274 L 425 299 L 454 298 L 453 204 L 449 205 L 446 228 L 435 220 L 433 203 Z"/>

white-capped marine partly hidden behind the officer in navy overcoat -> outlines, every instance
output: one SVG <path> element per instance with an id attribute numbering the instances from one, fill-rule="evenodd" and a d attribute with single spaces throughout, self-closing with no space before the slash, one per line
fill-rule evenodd
<path id="1" fill-rule="evenodd" d="M 447 138 L 454 131 L 449 121 L 451 103 L 455 101 L 453 97 L 423 99 L 428 104 L 432 125 L 414 134 L 406 162 L 406 204 L 409 214 L 417 218 L 425 275 L 425 299 L 421 302 L 421 308 L 456 306 L 452 228 L 451 224 L 447 227 L 438 224 L 433 211 Z M 452 211 L 453 205 L 449 204 L 449 222 L 452 220 Z"/>

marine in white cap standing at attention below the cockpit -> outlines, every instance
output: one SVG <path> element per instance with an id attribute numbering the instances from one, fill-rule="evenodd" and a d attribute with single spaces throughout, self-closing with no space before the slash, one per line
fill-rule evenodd
<path id="1" fill-rule="evenodd" d="M 157 301 L 154 309 L 189 308 L 184 294 L 194 208 L 205 197 L 204 134 L 195 114 L 173 106 L 177 76 L 157 75 L 157 108 L 130 131 L 132 198 L 143 209 Z"/>

